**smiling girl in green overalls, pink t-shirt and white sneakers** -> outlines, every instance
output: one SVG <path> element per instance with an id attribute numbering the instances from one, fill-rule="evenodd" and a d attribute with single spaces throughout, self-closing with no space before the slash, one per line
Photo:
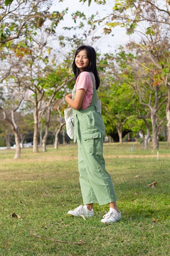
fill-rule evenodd
<path id="1" fill-rule="evenodd" d="M 97 108 L 99 74 L 96 52 L 91 46 L 80 46 L 75 52 L 73 72 L 76 83 L 72 93 L 66 95 L 68 107 L 73 108 L 74 141 L 78 145 L 79 182 L 84 205 L 68 214 L 94 215 L 93 203 L 109 204 L 110 209 L 101 222 L 117 222 L 121 213 L 117 208 L 116 194 L 110 175 L 105 169 L 103 140 L 105 127 Z"/>

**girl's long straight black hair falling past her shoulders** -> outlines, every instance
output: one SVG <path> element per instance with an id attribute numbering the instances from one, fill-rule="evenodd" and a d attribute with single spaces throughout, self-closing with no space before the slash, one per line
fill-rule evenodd
<path id="1" fill-rule="evenodd" d="M 92 72 L 95 76 L 95 81 L 96 81 L 96 90 L 99 88 L 100 85 L 100 78 L 99 78 L 99 74 L 97 72 L 97 65 L 96 65 L 96 52 L 95 49 L 91 46 L 88 45 L 82 45 L 80 46 L 76 52 L 75 52 L 75 57 L 77 56 L 77 54 L 82 51 L 82 50 L 86 50 L 87 53 L 87 57 L 90 61 L 90 64 L 88 65 L 88 67 L 85 67 L 85 69 L 83 71 L 88 71 L 88 72 Z M 75 57 L 74 57 L 74 61 L 73 61 L 73 73 L 75 74 L 75 77 L 77 79 L 77 76 L 81 73 L 81 71 L 79 70 L 79 68 L 75 65 Z"/>

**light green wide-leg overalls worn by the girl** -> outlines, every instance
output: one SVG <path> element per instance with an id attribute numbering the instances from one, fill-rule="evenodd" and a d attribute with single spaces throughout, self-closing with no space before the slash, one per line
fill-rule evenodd
<path id="1" fill-rule="evenodd" d="M 91 74 L 91 73 L 90 73 Z M 97 91 L 93 80 L 93 98 L 88 108 L 73 109 L 74 141 L 78 145 L 79 182 L 84 204 L 108 204 L 117 200 L 110 174 L 105 169 L 103 140 L 105 126 L 97 108 Z M 73 99 L 75 97 L 73 88 Z"/>

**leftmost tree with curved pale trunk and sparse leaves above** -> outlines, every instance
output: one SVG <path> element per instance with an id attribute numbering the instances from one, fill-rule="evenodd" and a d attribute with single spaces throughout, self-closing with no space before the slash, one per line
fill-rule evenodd
<path id="1" fill-rule="evenodd" d="M 19 62 L 22 58 L 24 58 L 25 54 L 29 54 L 32 56 L 32 50 L 29 48 L 29 42 L 33 41 L 33 36 L 38 34 L 38 29 L 42 28 L 45 21 L 51 20 L 49 26 L 46 27 L 46 31 L 49 34 L 53 34 L 55 27 L 57 26 L 58 22 L 62 20 L 65 11 L 62 13 L 59 12 L 49 12 L 49 8 L 51 7 L 52 1 L 50 0 L 6 0 L 5 5 L 2 3 L 0 8 L 0 53 L 1 53 L 1 60 L 5 64 L 7 68 L 7 72 L 3 74 L 2 70 L 1 73 L 1 80 L 4 81 L 5 79 L 13 79 L 15 85 L 11 90 L 13 90 L 13 96 L 15 93 L 18 95 L 20 101 L 18 103 L 17 108 L 11 110 L 12 118 L 9 119 L 7 117 L 7 112 L 0 105 L 0 110 L 2 110 L 4 114 L 4 119 L 9 121 L 13 132 L 15 134 L 15 144 L 16 144 L 16 155 L 15 157 L 20 157 L 20 134 L 18 130 L 18 126 L 15 122 L 15 111 L 20 108 L 21 103 L 24 97 L 27 95 L 27 87 L 24 87 L 24 78 L 28 78 L 26 69 L 24 65 L 19 65 Z M 9 26 L 10 24 L 10 26 Z M 14 39 L 18 39 L 15 40 Z M 12 60 L 13 52 L 15 53 L 15 58 L 19 57 L 19 62 L 15 62 Z M 33 57 L 33 56 L 32 56 Z M 8 58 L 8 60 L 7 60 Z M 30 61 L 30 59 L 29 59 Z M 33 61 L 33 59 L 32 59 Z M 2 62 L 1 62 L 2 63 Z M 23 62 L 22 62 L 23 63 Z M 24 63 L 23 63 L 24 64 Z M 29 63 L 31 65 L 31 63 Z M 12 70 L 12 73 L 11 73 Z M 18 71 L 18 73 L 16 72 Z M 22 71 L 22 72 L 21 72 Z M 14 90 L 15 87 L 15 90 Z M 18 90 L 17 90 L 18 89 Z M 8 90 L 9 91 L 9 90 Z M 35 114 L 36 115 L 36 114 Z M 36 140 L 35 140 L 36 141 Z M 36 150 L 38 150 L 38 146 L 35 144 Z"/>

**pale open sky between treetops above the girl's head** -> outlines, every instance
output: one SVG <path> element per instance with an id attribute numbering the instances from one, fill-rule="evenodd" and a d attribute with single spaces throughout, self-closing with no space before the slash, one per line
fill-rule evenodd
<path id="1" fill-rule="evenodd" d="M 106 0 L 106 4 L 96 4 L 94 0 L 91 1 L 90 7 L 88 7 L 88 0 L 82 4 L 79 0 L 63 0 L 60 2 L 59 0 L 54 0 L 54 4 L 52 7 L 53 11 L 63 11 L 68 7 L 68 13 L 64 16 L 64 21 L 61 22 L 58 29 L 62 31 L 62 27 L 69 27 L 75 25 L 72 20 L 71 13 L 75 11 L 84 12 L 86 16 L 91 16 L 96 12 L 99 13 L 99 17 L 107 16 L 107 14 L 111 13 L 113 8 L 114 1 Z M 101 36 L 103 29 L 98 31 L 98 35 Z M 66 33 L 69 33 L 68 31 Z M 97 34 L 96 34 L 97 35 Z M 126 35 L 126 31 L 124 28 L 116 27 L 112 29 L 112 32 L 109 35 L 103 35 L 101 39 L 97 41 L 94 47 L 97 47 L 101 53 L 110 53 L 115 52 L 118 49 L 119 45 L 125 46 L 128 42 L 128 36 Z"/>

